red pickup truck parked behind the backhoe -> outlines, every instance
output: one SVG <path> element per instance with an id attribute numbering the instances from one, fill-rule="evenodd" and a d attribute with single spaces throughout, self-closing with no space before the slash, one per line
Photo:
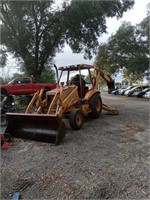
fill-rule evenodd
<path id="1" fill-rule="evenodd" d="M 55 89 L 56 83 L 34 83 L 33 78 L 17 78 L 5 85 L 0 85 L 2 95 L 23 95 L 34 94 L 37 90 L 45 88 L 46 90 Z"/>

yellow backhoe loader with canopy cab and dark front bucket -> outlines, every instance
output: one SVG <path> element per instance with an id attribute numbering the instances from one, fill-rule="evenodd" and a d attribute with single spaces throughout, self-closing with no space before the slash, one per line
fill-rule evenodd
<path id="1" fill-rule="evenodd" d="M 44 99 L 43 90 L 38 91 L 25 113 L 6 114 L 6 133 L 16 138 L 59 144 L 65 137 L 63 119 L 69 120 L 72 129 L 79 130 L 85 116 L 98 118 L 102 109 L 108 114 L 119 114 L 117 109 L 102 103 L 98 89 L 100 76 L 109 89 L 114 88 L 114 81 L 104 71 L 86 64 L 60 67 L 59 71 L 57 88 L 47 91 Z M 83 79 L 84 71 L 88 72 L 90 84 Z"/>

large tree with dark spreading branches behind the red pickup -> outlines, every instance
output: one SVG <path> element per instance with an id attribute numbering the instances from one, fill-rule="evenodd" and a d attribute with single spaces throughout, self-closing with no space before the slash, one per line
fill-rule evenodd
<path id="1" fill-rule="evenodd" d="M 134 1 L 64 1 L 54 8 L 49 1 L 2 1 L 1 43 L 23 60 L 29 75 L 40 78 L 42 71 L 65 42 L 75 53 L 91 58 L 98 37 L 106 32 L 106 18 L 122 14 Z"/>

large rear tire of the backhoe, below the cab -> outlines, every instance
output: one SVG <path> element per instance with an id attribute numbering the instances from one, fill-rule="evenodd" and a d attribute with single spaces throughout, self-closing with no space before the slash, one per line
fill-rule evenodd
<path id="1" fill-rule="evenodd" d="M 102 100 L 99 94 L 94 94 L 89 100 L 89 106 L 92 112 L 89 113 L 89 116 L 93 119 L 96 119 L 100 116 L 102 112 Z"/>

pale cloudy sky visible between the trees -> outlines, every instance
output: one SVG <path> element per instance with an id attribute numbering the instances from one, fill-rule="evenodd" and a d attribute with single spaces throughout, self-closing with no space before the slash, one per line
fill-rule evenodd
<path id="1" fill-rule="evenodd" d="M 119 26 L 123 21 L 129 21 L 132 25 L 136 25 L 137 23 L 140 23 L 147 14 L 146 11 L 146 5 L 149 3 L 149 0 L 135 0 L 135 5 L 131 10 L 128 10 L 126 13 L 124 13 L 123 17 L 119 20 L 114 18 L 109 18 L 107 20 L 107 34 L 103 34 L 101 38 L 99 38 L 99 41 L 106 42 L 109 36 L 111 34 L 115 34 Z M 56 66 L 66 66 L 66 65 L 72 65 L 72 64 L 93 64 L 94 57 L 91 60 L 85 60 L 83 58 L 83 54 L 74 54 L 72 53 L 69 46 L 65 45 L 65 47 L 62 49 L 61 53 L 56 54 L 56 57 L 54 58 Z M 2 76 L 10 76 L 13 73 L 18 72 L 19 69 L 14 70 L 14 66 L 16 66 L 15 60 L 11 59 L 11 62 L 8 62 L 8 67 L 5 68 L 3 71 L 1 71 Z"/>

